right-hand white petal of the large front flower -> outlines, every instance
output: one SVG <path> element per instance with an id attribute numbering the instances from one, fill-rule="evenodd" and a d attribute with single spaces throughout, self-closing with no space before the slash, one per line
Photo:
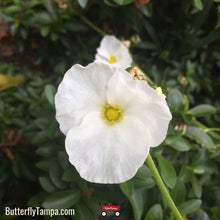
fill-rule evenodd
<path id="1" fill-rule="evenodd" d="M 117 69 L 108 82 L 107 101 L 125 109 L 125 114 L 142 121 L 151 147 L 165 139 L 172 118 L 166 101 L 148 84 L 133 80 L 126 71 Z"/>

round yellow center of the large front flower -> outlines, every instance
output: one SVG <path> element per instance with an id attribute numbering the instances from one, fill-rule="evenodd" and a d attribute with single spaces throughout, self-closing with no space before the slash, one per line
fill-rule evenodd
<path id="1" fill-rule="evenodd" d="M 114 125 L 123 119 L 123 110 L 117 105 L 105 105 L 101 112 L 102 118 L 110 125 Z"/>

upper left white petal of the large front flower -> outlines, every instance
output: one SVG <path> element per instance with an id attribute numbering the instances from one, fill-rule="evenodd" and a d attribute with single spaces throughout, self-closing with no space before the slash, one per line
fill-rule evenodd
<path id="1" fill-rule="evenodd" d="M 106 84 L 113 72 L 109 66 L 74 65 L 69 69 L 55 95 L 56 119 L 66 134 L 91 111 L 100 111 L 106 100 Z"/>

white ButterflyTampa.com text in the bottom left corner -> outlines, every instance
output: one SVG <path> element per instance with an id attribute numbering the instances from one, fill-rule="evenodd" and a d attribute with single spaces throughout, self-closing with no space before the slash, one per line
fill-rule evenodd
<path id="1" fill-rule="evenodd" d="M 10 208 L 10 207 L 5 207 L 5 215 L 10 215 L 10 216 L 56 216 L 56 215 L 75 215 L 75 210 L 74 209 L 44 209 L 41 207 L 28 207 L 25 209 L 22 208 Z"/>

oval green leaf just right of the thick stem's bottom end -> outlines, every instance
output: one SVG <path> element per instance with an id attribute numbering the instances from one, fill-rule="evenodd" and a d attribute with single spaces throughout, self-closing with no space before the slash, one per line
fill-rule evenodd
<path id="1" fill-rule="evenodd" d="M 178 208 L 181 213 L 189 214 L 197 211 L 201 206 L 202 201 L 200 199 L 192 199 L 187 202 L 182 203 Z"/>

